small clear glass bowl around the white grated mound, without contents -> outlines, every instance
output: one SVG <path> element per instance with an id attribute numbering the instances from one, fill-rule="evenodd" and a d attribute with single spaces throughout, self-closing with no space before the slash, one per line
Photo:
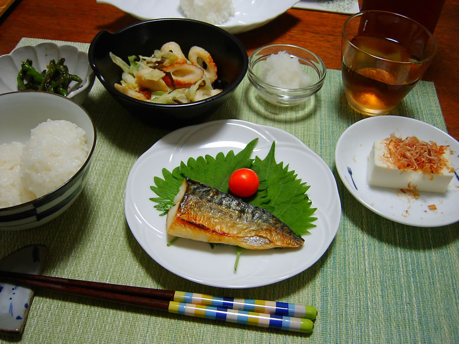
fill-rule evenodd
<path id="1" fill-rule="evenodd" d="M 260 78 L 263 64 L 271 54 L 285 51 L 291 57 L 297 57 L 303 72 L 311 77 L 311 84 L 304 88 L 282 88 L 270 85 Z M 317 93 L 325 80 L 326 68 L 323 61 L 314 52 L 290 44 L 272 44 L 262 47 L 249 56 L 248 79 L 258 94 L 276 105 L 292 106 L 306 101 Z"/>

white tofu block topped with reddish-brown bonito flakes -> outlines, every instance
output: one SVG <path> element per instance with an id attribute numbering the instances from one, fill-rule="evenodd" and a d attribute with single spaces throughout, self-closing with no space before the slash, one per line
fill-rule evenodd
<path id="1" fill-rule="evenodd" d="M 449 146 L 392 134 L 373 144 L 368 156 L 368 184 L 443 193 L 454 176 L 451 154 Z"/>

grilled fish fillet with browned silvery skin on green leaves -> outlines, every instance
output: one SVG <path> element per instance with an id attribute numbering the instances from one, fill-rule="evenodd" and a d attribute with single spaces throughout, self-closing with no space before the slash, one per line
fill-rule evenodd
<path id="1" fill-rule="evenodd" d="M 166 219 L 167 233 L 252 250 L 300 247 L 304 240 L 267 210 L 185 178 Z"/>

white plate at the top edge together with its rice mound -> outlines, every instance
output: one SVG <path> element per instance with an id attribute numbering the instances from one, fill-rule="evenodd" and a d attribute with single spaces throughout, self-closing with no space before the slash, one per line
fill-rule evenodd
<path id="1" fill-rule="evenodd" d="M 97 0 L 141 19 L 191 18 L 207 21 L 232 34 L 261 27 L 298 0 Z"/>

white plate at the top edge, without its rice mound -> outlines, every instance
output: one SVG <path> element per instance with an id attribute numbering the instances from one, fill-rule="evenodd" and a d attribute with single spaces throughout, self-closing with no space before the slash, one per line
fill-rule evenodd
<path id="1" fill-rule="evenodd" d="M 295 5 L 298 0 L 233 0 L 235 15 L 216 26 L 232 34 L 240 34 L 261 27 Z M 180 0 L 97 0 L 141 19 L 185 18 L 179 9 Z"/>

